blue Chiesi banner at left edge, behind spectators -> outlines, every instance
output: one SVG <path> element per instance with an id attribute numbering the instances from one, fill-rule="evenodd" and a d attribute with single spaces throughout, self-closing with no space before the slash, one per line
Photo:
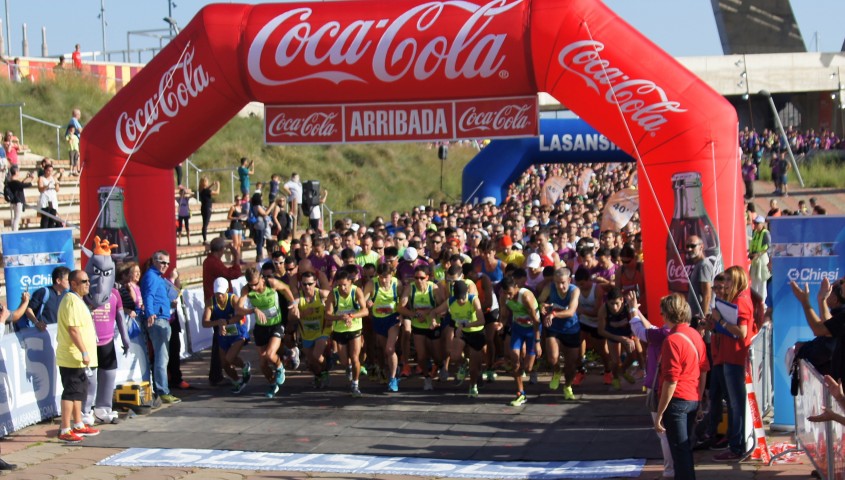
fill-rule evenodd
<path id="1" fill-rule="evenodd" d="M 51 274 L 56 267 L 74 269 L 73 229 L 4 232 L 0 238 L 10 310 L 18 308 L 23 292 L 52 285 Z"/>

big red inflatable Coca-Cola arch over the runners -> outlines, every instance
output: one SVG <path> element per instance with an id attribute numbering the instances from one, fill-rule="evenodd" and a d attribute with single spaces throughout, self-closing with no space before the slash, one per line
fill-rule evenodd
<path id="1" fill-rule="evenodd" d="M 537 92 L 639 159 L 649 304 L 666 293 L 667 273 L 682 273 L 667 262 L 670 223 L 675 232 L 701 231 L 711 254 L 721 239 L 726 265 L 744 263 L 733 107 L 596 0 L 208 6 L 86 127 L 82 236 L 93 238 L 103 221 L 98 192 L 116 183 L 139 258 L 175 252 L 172 168 L 252 100 L 348 104 Z M 677 175 L 683 172 L 695 174 Z M 676 206 L 673 176 L 681 193 L 697 193 L 700 177 L 703 205 Z M 696 178 L 685 183 L 689 177 Z M 113 198 L 103 216 L 113 225 L 119 203 Z M 672 222 L 676 208 L 686 217 Z"/>

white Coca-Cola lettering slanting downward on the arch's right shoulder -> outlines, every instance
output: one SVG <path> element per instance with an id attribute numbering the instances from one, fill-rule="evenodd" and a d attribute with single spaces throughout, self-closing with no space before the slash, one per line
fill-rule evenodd
<path id="1" fill-rule="evenodd" d="M 596 93 L 601 94 L 601 90 L 606 89 L 604 100 L 613 104 L 618 101 L 622 113 L 647 132 L 660 130 L 668 121 L 666 113 L 686 112 L 680 108 L 680 102 L 670 101 L 666 92 L 653 81 L 631 78 L 612 67 L 608 60 L 599 56 L 602 50 L 604 44 L 593 40 L 570 43 L 560 51 L 558 62 L 565 70 L 583 78 Z"/>

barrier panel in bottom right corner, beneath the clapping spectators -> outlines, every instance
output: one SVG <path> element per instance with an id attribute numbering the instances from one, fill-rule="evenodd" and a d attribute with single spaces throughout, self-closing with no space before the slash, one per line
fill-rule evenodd
<path id="1" fill-rule="evenodd" d="M 839 415 L 843 409 L 830 395 L 824 377 L 804 360 L 800 361 L 801 386 L 795 396 L 795 439 L 816 472 L 825 480 L 845 479 L 845 452 L 842 435 L 845 426 L 837 422 L 811 422 L 807 417 L 831 410 Z"/>

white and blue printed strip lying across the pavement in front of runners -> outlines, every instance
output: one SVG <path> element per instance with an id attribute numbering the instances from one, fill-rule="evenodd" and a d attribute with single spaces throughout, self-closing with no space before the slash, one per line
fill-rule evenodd
<path id="1" fill-rule="evenodd" d="M 533 480 L 635 478 L 640 475 L 645 460 L 490 462 L 417 457 L 377 457 L 372 455 L 269 453 L 190 448 L 130 448 L 102 460 L 97 465 Z"/>

